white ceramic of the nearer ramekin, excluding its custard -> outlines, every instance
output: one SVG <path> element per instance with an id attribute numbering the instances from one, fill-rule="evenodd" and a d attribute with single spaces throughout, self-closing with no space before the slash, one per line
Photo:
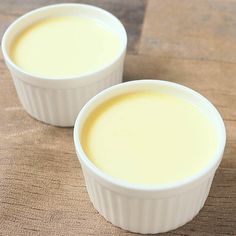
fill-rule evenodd
<path id="1" fill-rule="evenodd" d="M 90 112 L 116 95 L 140 89 L 182 97 L 206 113 L 219 137 L 219 145 L 208 166 L 191 177 L 171 184 L 135 185 L 109 176 L 88 159 L 80 143 L 80 133 Z M 193 219 L 208 196 L 215 171 L 222 159 L 225 142 L 223 120 L 206 98 L 185 86 L 158 80 L 132 81 L 102 91 L 83 107 L 74 127 L 75 148 L 94 207 L 114 225 L 137 233 L 166 232 Z"/>

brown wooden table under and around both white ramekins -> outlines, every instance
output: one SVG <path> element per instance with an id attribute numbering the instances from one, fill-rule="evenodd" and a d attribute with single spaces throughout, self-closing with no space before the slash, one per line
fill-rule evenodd
<path id="1" fill-rule="evenodd" d="M 54 2 L 0 0 L 0 36 L 18 16 Z M 193 221 L 166 235 L 236 235 L 236 1 L 82 2 L 111 11 L 125 24 L 124 81 L 190 86 L 223 115 L 227 146 L 206 204 Z M 72 128 L 43 124 L 23 110 L 2 55 L 0 111 L 0 235 L 133 235 L 93 208 Z"/>

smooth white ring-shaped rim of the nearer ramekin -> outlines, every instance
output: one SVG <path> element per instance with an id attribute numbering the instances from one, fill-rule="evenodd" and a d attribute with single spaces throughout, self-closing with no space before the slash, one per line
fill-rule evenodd
<path id="1" fill-rule="evenodd" d="M 189 92 L 191 92 L 193 95 L 198 96 L 199 99 L 201 99 L 202 101 L 204 101 L 205 103 L 207 103 L 208 105 L 210 105 L 210 107 L 213 109 L 213 111 L 215 112 L 215 114 L 218 116 L 219 118 L 219 129 L 222 132 L 222 137 L 221 137 L 221 141 L 219 141 L 219 145 L 218 148 L 216 149 L 215 152 L 215 157 L 212 158 L 212 160 L 209 162 L 209 164 L 201 169 L 199 172 L 195 173 L 194 175 L 191 175 L 187 178 L 184 178 L 182 180 L 178 180 L 175 181 L 173 183 L 168 183 L 168 184 L 152 184 L 152 185 L 146 185 L 146 184 L 133 184 L 133 183 L 129 183 L 128 181 L 123 181 L 120 180 L 118 178 L 112 177 L 109 174 L 105 173 L 104 171 L 102 171 L 101 169 L 99 169 L 98 167 L 96 167 L 96 165 L 94 165 L 92 163 L 92 161 L 89 160 L 89 158 L 86 156 L 85 152 L 83 151 L 82 145 L 79 142 L 79 133 L 78 133 L 78 127 L 80 124 L 80 120 L 83 118 L 84 113 L 86 113 L 86 110 L 90 107 L 91 104 L 93 104 L 93 102 L 98 99 L 99 97 L 104 96 L 106 93 L 110 93 L 112 90 L 118 89 L 119 87 L 123 87 L 129 84 L 137 84 L 137 83 L 159 83 L 159 84 L 168 84 L 170 86 L 174 86 L 180 89 L 184 89 L 184 90 L 188 90 Z M 132 85 L 131 85 L 132 86 Z M 223 118 L 220 114 L 220 112 L 216 109 L 216 107 L 203 95 L 201 95 L 200 93 L 196 92 L 195 90 L 175 83 L 175 82 L 170 82 L 170 81 L 166 81 L 166 80 L 133 80 L 133 81 L 129 81 L 129 82 L 124 82 L 118 85 L 114 85 L 110 88 L 107 88 L 103 91 L 101 91 L 100 93 L 98 93 L 96 96 L 94 96 L 93 98 L 91 98 L 85 105 L 84 107 L 81 109 L 81 111 L 79 112 L 76 121 L 75 121 L 75 125 L 74 125 L 74 131 L 73 131 L 73 136 L 74 136 L 74 145 L 76 148 L 76 153 L 77 153 L 77 157 L 80 160 L 80 162 L 82 162 L 83 164 L 86 165 L 86 167 L 92 171 L 96 176 L 98 176 L 99 178 L 101 178 L 103 181 L 108 182 L 109 184 L 124 188 L 124 189 L 129 189 L 129 190 L 134 190 L 134 191 L 147 191 L 147 192 L 157 192 L 157 191 L 167 191 L 167 190 L 173 190 L 173 189 L 177 189 L 186 185 L 190 185 L 192 183 L 194 183 L 195 181 L 197 181 L 198 179 L 201 179 L 202 177 L 206 176 L 209 172 L 211 172 L 211 170 L 213 168 L 217 168 L 221 159 L 222 159 L 222 154 L 224 152 L 224 148 L 225 148 L 225 144 L 226 144 L 226 129 L 225 129 L 225 125 L 223 122 Z M 79 155 L 78 155 L 79 153 Z"/>

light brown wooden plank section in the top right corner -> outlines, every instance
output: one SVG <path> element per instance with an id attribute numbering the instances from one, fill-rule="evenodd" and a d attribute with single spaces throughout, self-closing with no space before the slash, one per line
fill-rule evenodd
<path id="1" fill-rule="evenodd" d="M 140 52 L 236 62 L 232 0 L 148 1 Z"/>

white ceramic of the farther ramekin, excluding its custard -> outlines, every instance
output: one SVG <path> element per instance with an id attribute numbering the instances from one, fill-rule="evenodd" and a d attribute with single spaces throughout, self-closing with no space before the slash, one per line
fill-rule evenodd
<path id="1" fill-rule="evenodd" d="M 25 28 L 46 17 L 80 15 L 104 22 L 120 37 L 121 50 L 101 69 L 73 78 L 44 78 L 23 71 L 9 57 L 12 40 Z M 57 4 L 31 11 L 13 22 L 2 39 L 5 62 L 25 110 L 34 118 L 57 126 L 73 126 L 78 112 L 95 94 L 122 82 L 127 35 L 124 26 L 111 13 L 84 4 Z"/>

